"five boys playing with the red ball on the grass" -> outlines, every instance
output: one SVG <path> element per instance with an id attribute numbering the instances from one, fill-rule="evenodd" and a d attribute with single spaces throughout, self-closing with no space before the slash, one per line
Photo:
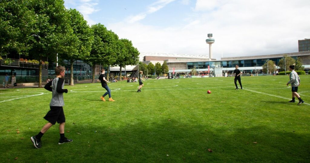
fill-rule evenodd
<path id="1" fill-rule="evenodd" d="M 238 65 L 235 66 L 234 74 L 235 74 L 235 85 L 236 89 L 239 89 L 237 86 L 237 81 L 240 84 L 240 87 L 242 89 L 241 85 L 241 77 L 240 75 L 242 74 L 241 70 L 238 69 Z M 287 82 L 286 85 L 291 84 L 292 87 L 292 100 L 289 102 L 295 102 L 295 97 L 299 99 L 298 105 L 302 104 L 304 101 L 300 98 L 299 94 L 297 93 L 298 91 L 298 86 L 300 85 L 300 79 L 298 74 L 294 71 L 294 65 L 290 66 L 290 81 Z M 139 71 L 139 88 L 137 92 L 141 92 L 141 88 L 143 87 L 142 81 L 143 79 L 143 72 Z M 44 88 L 47 89 L 48 91 L 52 92 L 52 98 L 50 102 L 50 111 L 47 112 L 47 114 L 44 116 L 44 119 L 48 121 L 46 125 L 43 126 L 43 128 L 40 130 L 40 132 L 32 136 L 30 139 L 36 148 L 41 148 L 42 147 L 42 142 L 41 138 L 43 134 L 52 126 L 55 125 L 56 122 L 59 123 L 59 133 L 60 133 L 60 139 L 58 144 L 63 144 L 63 143 L 69 143 L 72 142 L 72 139 L 68 139 L 64 136 L 64 125 L 65 125 L 65 116 L 64 116 L 64 97 L 63 93 L 68 93 L 68 89 L 64 89 L 64 75 L 65 75 L 65 68 L 63 66 L 57 66 L 55 68 L 55 74 L 56 78 L 52 79 L 49 81 Z M 5 79 L 6 80 L 6 79 Z M 106 75 L 105 75 L 105 70 L 101 70 L 101 75 L 98 78 L 98 82 L 101 83 L 101 86 L 107 91 L 105 92 L 100 99 L 102 101 L 105 100 L 105 96 L 109 95 L 108 101 L 114 102 L 115 100 L 112 99 L 111 97 L 111 90 L 108 87 L 108 81 L 106 80 Z"/>

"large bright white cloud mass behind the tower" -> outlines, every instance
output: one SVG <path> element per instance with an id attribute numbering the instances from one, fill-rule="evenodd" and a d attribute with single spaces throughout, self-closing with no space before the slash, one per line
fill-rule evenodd
<path id="1" fill-rule="evenodd" d="M 310 37 L 310 1 L 197 0 L 184 26 L 138 23 L 109 24 L 120 38 L 132 40 L 140 52 L 209 55 L 205 39 L 213 34 L 213 57 L 298 52 L 298 39 Z"/>

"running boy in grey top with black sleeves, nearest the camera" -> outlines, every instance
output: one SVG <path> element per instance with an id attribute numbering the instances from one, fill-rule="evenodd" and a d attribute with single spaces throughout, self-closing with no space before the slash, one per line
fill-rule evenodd
<path id="1" fill-rule="evenodd" d="M 57 66 L 55 68 L 56 78 L 48 82 L 44 88 L 52 92 L 52 99 L 50 102 L 50 111 L 47 112 L 44 119 L 48 121 L 46 125 L 40 130 L 38 135 L 31 137 L 31 141 L 36 148 L 41 148 L 41 137 L 43 134 L 56 122 L 59 123 L 60 139 L 58 144 L 69 143 L 73 140 L 64 137 L 64 125 L 66 118 L 64 116 L 64 97 L 63 93 L 68 93 L 68 89 L 64 89 L 64 74 L 65 68 L 63 66 Z"/>

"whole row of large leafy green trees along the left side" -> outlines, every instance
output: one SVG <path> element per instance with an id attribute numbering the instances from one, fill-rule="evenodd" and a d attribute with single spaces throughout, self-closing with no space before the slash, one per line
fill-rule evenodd
<path id="1" fill-rule="evenodd" d="M 135 65 L 139 51 L 128 39 L 104 25 L 87 25 L 82 14 L 66 9 L 63 0 L 0 1 L 0 53 L 16 53 L 39 60 L 39 87 L 42 87 L 42 61 L 56 56 L 71 63 L 84 60 L 93 66 Z M 121 71 L 121 70 L 120 70 Z"/>

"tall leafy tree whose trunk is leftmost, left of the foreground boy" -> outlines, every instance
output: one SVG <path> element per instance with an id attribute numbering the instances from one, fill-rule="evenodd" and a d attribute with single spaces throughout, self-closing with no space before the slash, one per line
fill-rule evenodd
<path id="1" fill-rule="evenodd" d="M 29 54 L 39 60 L 39 87 L 42 87 L 42 58 L 55 61 L 57 53 L 64 53 L 74 40 L 73 30 L 68 24 L 63 0 L 28 0 L 29 9 L 35 14 L 31 49 Z"/>

